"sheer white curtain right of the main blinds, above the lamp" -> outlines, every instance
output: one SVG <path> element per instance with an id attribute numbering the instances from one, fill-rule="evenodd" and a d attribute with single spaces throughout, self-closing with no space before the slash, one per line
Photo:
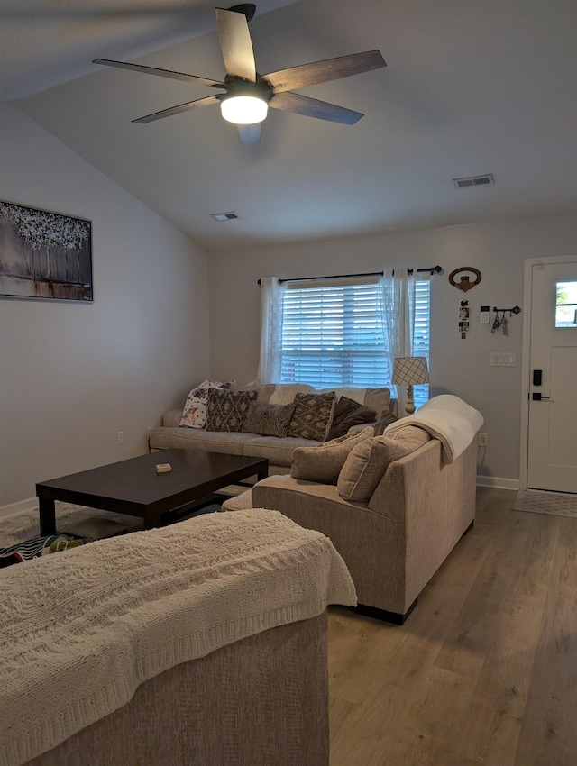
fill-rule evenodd
<path id="1" fill-rule="evenodd" d="M 385 340 L 385 353 L 392 377 L 395 358 L 413 355 L 413 332 L 415 329 L 415 287 L 417 269 L 405 267 L 383 269 L 380 278 L 382 287 L 382 326 Z M 391 384 L 395 396 L 397 387 Z M 396 396 L 403 399 L 406 391 L 397 391 Z"/>

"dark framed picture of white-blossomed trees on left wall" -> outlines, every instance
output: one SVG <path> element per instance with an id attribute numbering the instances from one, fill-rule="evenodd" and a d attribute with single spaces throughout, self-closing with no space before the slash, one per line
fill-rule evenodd
<path id="1" fill-rule="evenodd" d="M 92 300 L 92 223 L 0 200 L 0 296 Z"/>

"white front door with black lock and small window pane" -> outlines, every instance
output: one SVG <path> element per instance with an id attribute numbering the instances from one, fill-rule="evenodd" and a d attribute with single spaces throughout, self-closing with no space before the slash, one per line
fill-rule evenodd
<path id="1" fill-rule="evenodd" d="M 577 493 L 577 257 L 531 267 L 527 488 Z"/>

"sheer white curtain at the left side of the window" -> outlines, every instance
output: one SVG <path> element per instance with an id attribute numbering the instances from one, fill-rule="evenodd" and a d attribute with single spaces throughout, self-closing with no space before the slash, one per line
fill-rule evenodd
<path id="1" fill-rule="evenodd" d="M 261 277 L 261 359 L 258 385 L 279 383 L 282 360 L 282 297 L 285 283 L 277 277 Z"/>

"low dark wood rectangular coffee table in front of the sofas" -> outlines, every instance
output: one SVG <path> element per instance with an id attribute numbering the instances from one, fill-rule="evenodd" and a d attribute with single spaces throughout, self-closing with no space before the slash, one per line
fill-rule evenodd
<path id="1" fill-rule="evenodd" d="M 170 473 L 157 474 L 157 463 Z M 267 476 L 269 461 L 202 450 L 162 450 L 127 461 L 83 470 L 36 485 L 41 536 L 56 533 L 55 500 L 140 516 L 144 529 L 160 526 L 160 516 L 184 512 L 210 500 L 217 489 L 256 475 Z"/>

